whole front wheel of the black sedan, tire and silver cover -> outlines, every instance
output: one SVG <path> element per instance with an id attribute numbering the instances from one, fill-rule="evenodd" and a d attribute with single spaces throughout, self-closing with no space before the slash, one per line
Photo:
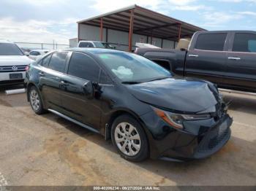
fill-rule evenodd
<path id="1" fill-rule="evenodd" d="M 129 115 L 116 118 L 111 128 L 113 144 L 127 160 L 139 162 L 148 157 L 148 140 L 140 123 Z"/>

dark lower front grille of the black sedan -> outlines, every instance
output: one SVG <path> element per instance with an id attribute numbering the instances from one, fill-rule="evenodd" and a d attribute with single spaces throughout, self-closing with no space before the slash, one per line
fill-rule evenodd
<path id="1" fill-rule="evenodd" d="M 197 147 L 195 157 L 203 157 L 217 152 L 230 139 L 232 119 L 227 117 L 222 123 L 211 128 Z"/>

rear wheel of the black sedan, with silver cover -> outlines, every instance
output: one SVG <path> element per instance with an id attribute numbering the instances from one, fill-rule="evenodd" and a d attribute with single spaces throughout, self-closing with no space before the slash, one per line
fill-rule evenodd
<path id="1" fill-rule="evenodd" d="M 42 106 L 42 99 L 39 95 L 39 92 L 36 87 L 32 86 L 29 89 L 29 102 L 31 108 L 34 110 L 36 114 L 43 114 L 45 113 L 45 109 Z"/>

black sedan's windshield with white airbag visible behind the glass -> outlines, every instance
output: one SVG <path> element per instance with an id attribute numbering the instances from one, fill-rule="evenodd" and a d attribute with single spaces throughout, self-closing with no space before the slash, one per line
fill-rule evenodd
<path id="1" fill-rule="evenodd" d="M 172 77 L 157 63 L 129 52 L 100 52 L 99 58 L 123 83 L 140 83 Z"/>

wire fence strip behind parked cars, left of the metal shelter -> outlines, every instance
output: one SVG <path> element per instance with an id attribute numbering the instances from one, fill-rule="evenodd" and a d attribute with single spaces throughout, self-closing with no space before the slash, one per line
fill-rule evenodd
<path id="1" fill-rule="evenodd" d="M 57 43 L 34 43 L 34 42 L 15 42 L 20 48 L 27 48 L 29 50 L 34 49 L 48 49 L 56 50 L 69 47 L 69 44 L 57 44 Z"/>

